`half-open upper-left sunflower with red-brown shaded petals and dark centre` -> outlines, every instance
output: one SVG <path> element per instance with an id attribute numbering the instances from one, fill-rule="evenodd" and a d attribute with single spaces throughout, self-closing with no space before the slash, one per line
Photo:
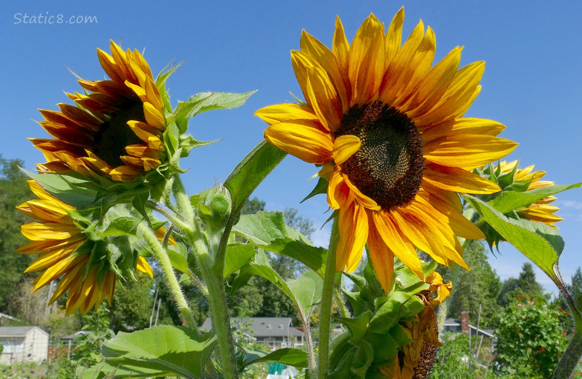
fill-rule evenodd
<path id="1" fill-rule="evenodd" d="M 38 168 L 135 181 L 166 159 L 164 102 L 137 50 L 124 52 L 111 41 L 111 55 L 97 49 L 97 56 L 111 80 L 79 80 L 84 94 L 67 94 L 76 105 L 39 109 L 41 126 L 55 139 L 30 139 L 48 161 Z"/>

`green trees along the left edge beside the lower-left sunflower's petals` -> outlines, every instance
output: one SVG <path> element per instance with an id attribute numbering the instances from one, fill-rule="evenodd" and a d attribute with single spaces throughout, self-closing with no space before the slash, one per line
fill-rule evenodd
<path id="1" fill-rule="evenodd" d="M 36 256 L 15 253 L 27 239 L 20 234 L 20 226 L 33 219 L 15 207 L 33 198 L 26 175 L 19 170 L 20 159 L 3 159 L 0 155 L 0 312 L 15 314 L 17 303 L 11 302 L 17 285 L 23 280 L 24 270 Z"/>

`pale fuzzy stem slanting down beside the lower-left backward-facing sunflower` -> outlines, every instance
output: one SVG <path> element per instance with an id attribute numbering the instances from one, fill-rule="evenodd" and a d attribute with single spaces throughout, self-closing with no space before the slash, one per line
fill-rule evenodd
<path id="1" fill-rule="evenodd" d="M 184 320 L 186 320 L 186 324 L 190 328 L 198 330 L 194 316 L 192 316 L 188 302 L 186 301 L 186 298 L 182 292 L 182 288 L 180 288 L 180 284 L 178 284 L 178 280 L 176 279 L 176 275 L 172 267 L 172 262 L 170 262 L 170 258 L 168 257 L 168 253 L 164 250 L 164 248 L 162 248 L 158 237 L 156 237 L 154 232 L 147 225 L 143 223 L 140 224 L 140 232 L 143 234 L 145 241 L 150 246 L 152 253 L 154 254 L 154 259 L 158 261 L 159 267 L 162 269 L 162 273 L 164 273 L 166 278 L 166 284 L 168 285 L 170 293 L 176 301 L 176 305 L 178 305 L 178 308 L 180 309 L 180 313 L 182 313 L 182 317 L 184 317 Z"/>

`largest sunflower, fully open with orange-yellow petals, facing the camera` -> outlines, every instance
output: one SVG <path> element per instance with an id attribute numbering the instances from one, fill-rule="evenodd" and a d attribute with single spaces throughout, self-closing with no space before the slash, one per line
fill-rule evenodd
<path id="1" fill-rule="evenodd" d="M 456 236 L 484 235 L 460 213 L 457 192 L 499 191 L 470 170 L 517 145 L 496 137 L 502 124 L 463 117 L 484 63 L 458 69 L 457 47 L 432 66 L 433 31 L 420 22 L 401 45 L 403 22 L 400 9 L 384 33 L 370 15 L 350 45 L 337 17 L 331 50 L 303 31 L 291 59 L 306 102 L 255 113 L 269 124 L 267 141 L 322 165 L 339 211 L 336 270 L 355 270 L 367 242 L 385 291 L 393 255 L 423 278 L 415 248 L 468 269 Z"/>

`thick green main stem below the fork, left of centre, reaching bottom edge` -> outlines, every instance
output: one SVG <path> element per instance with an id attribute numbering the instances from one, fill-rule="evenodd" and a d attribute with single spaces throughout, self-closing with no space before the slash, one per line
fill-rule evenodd
<path id="1" fill-rule="evenodd" d="M 195 235 L 192 237 L 194 238 L 191 238 L 190 242 L 195 250 L 194 256 L 196 256 L 198 268 L 208 288 L 207 298 L 210 305 L 212 329 L 217 333 L 222 374 L 225 379 L 237 379 L 239 371 L 236 364 L 235 341 L 232 338 L 232 330 L 230 330 L 224 280 L 222 275 L 217 275 L 212 270 L 212 259 L 204 241 L 201 238 L 196 238 Z"/>

